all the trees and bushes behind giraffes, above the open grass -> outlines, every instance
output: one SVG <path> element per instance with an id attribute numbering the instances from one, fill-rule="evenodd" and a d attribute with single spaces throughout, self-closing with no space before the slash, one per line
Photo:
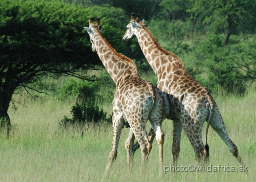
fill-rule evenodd
<path id="1" fill-rule="evenodd" d="M 54 89 L 59 99 L 112 101 L 109 75 L 84 71 L 102 65 L 82 28 L 89 17 L 101 17 L 106 40 L 156 83 L 137 40 L 122 44 L 132 12 L 141 14 L 160 45 L 181 57 L 212 94 L 245 95 L 248 83 L 256 81 L 255 8 L 256 0 L 0 0 L 0 117 L 8 117 L 15 90 L 39 91 L 33 84 L 49 72 L 100 80 L 71 79 Z M 41 85 L 40 92 L 47 91 Z"/>

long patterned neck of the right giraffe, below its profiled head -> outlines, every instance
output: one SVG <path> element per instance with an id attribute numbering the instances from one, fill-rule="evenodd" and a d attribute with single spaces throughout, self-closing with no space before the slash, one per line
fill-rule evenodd
<path id="1" fill-rule="evenodd" d="M 167 92 L 167 83 L 175 82 L 178 87 L 179 82 L 185 77 L 192 79 L 181 59 L 164 50 L 145 27 L 138 28 L 136 36 L 142 52 L 158 78 L 157 86 L 159 89 Z"/>

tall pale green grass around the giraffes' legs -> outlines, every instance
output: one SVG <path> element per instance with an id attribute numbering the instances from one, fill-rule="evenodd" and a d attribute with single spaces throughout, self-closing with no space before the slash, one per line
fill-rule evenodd
<path id="1" fill-rule="evenodd" d="M 18 109 L 10 106 L 8 114 L 13 125 L 10 138 L 0 135 L 0 181 L 100 181 L 112 145 L 112 126 L 86 125 L 81 130 L 61 130 L 58 120 L 70 117 L 71 101 L 62 103 L 53 96 L 40 95 L 38 102 L 15 95 Z M 20 100 L 19 100 L 20 99 Z M 123 129 L 118 156 L 107 181 L 254 181 L 256 178 L 256 95 L 250 91 L 243 98 L 215 98 L 224 118 L 228 134 L 238 150 L 249 172 L 167 172 L 158 177 L 158 146 L 156 141 L 148 158 L 146 170 L 140 174 L 140 151 L 134 156 L 129 172 L 124 147 L 128 129 Z M 111 104 L 102 104 L 108 113 Z M 172 121 L 164 121 L 164 166 L 172 164 Z M 149 126 L 147 126 L 149 131 Z M 202 135 L 205 143 L 206 123 Z M 209 165 L 235 166 L 239 163 L 228 147 L 210 128 Z M 195 163 L 194 150 L 182 131 L 181 151 L 178 166 Z"/>

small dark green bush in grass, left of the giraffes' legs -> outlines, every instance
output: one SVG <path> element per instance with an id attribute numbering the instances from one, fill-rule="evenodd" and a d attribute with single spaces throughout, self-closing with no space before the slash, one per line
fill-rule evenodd
<path id="1" fill-rule="evenodd" d="M 66 127 L 67 125 L 83 125 L 85 123 L 109 123 L 112 124 L 112 115 L 107 116 L 107 113 L 103 109 L 99 109 L 99 106 L 95 103 L 76 103 L 71 107 L 70 113 L 72 118 L 64 116 L 60 120 L 60 126 Z"/>

